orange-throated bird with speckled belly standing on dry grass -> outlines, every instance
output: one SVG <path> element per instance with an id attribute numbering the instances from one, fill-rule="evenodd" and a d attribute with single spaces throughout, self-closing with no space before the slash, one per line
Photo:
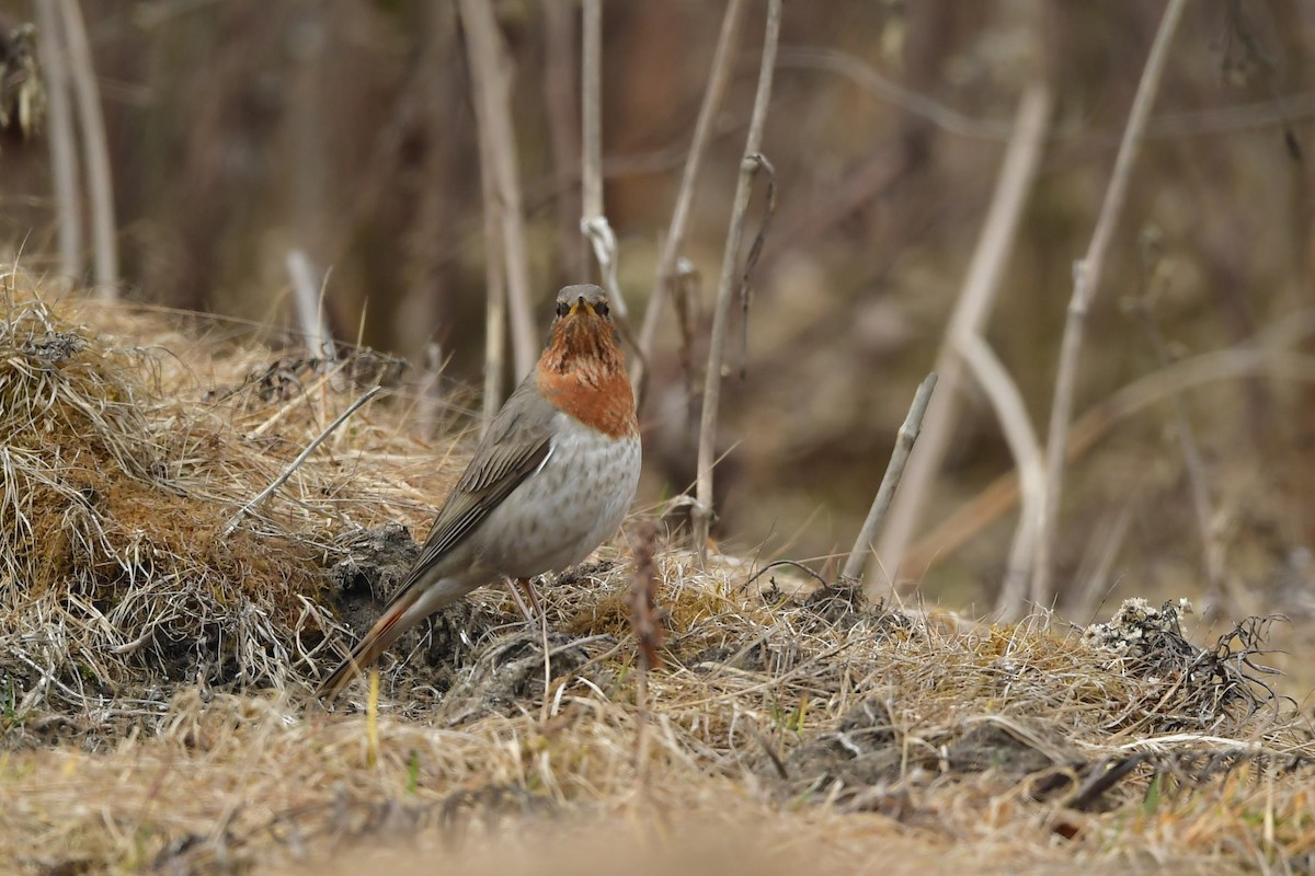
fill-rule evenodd
<path id="1" fill-rule="evenodd" d="M 500 579 L 584 561 L 621 528 L 639 486 L 635 397 L 606 293 L 565 286 L 548 344 L 489 423 L 383 615 L 317 695 L 333 701 L 425 617 Z"/>

